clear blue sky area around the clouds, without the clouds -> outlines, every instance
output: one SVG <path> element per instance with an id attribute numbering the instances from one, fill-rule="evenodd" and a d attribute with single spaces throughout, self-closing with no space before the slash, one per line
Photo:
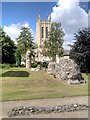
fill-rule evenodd
<path id="1" fill-rule="evenodd" d="M 32 29 L 35 31 L 37 15 L 40 14 L 41 19 L 45 20 L 52 7 L 56 2 L 3 2 L 2 3 L 2 27 L 4 25 L 16 24 L 18 22 L 29 22 Z M 80 2 L 80 6 L 88 11 L 88 3 Z"/>

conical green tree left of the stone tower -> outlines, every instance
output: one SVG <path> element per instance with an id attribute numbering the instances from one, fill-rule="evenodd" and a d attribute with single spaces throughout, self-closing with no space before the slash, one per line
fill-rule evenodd
<path id="1" fill-rule="evenodd" d="M 27 27 L 22 27 L 19 37 L 17 38 L 18 45 L 21 55 L 25 57 L 27 50 L 31 51 L 31 57 L 35 56 L 34 49 L 36 48 L 35 43 L 33 42 L 32 33 Z M 30 58 L 32 59 L 32 58 Z"/>

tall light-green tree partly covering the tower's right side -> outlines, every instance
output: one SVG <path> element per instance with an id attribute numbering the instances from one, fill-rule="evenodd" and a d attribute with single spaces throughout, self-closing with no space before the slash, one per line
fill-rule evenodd
<path id="1" fill-rule="evenodd" d="M 56 61 L 56 55 L 63 55 L 64 33 L 60 23 L 52 23 L 48 39 L 44 42 L 43 55 L 48 56 L 52 61 Z"/>

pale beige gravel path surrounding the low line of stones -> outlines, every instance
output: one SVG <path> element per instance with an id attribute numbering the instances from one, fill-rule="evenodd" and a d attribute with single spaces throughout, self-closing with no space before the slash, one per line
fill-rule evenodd
<path id="1" fill-rule="evenodd" d="M 52 107 L 57 105 L 70 105 L 70 104 L 86 104 L 88 105 L 88 96 L 56 98 L 56 99 L 35 99 L 35 100 L 22 100 L 22 101 L 7 101 L 2 102 L 2 116 L 7 118 L 7 112 L 14 107 L 19 106 L 36 106 L 36 107 Z M 75 112 L 61 112 L 49 114 L 34 114 L 26 116 L 17 116 L 20 118 L 88 118 L 88 111 L 75 111 Z"/>

